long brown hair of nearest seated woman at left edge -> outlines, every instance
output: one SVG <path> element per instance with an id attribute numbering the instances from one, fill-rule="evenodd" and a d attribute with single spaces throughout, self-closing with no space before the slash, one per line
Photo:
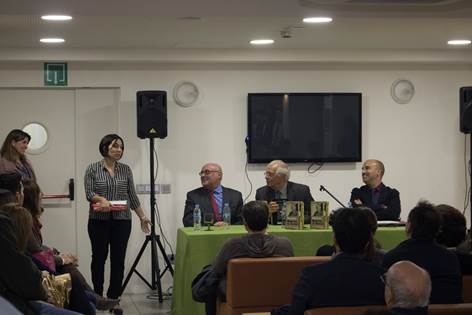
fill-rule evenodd
<path id="1" fill-rule="evenodd" d="M 2 211 L 10 218 L 13 225 L 18 249 L 21 252 L 25 252 L 33 229 L 33 218 L 31 214 L 28 210 L 16 203 L 4 205 Z"/>

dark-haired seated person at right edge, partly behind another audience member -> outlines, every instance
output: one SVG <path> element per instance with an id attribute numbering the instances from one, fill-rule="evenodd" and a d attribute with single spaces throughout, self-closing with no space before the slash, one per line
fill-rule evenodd
<path id="1" fill-rule="evenodd" d="M 448 205 L 438 205 L 436 206 L 436 210 L 439 211 L 442 218 L 442 225 L 436 237 L 436 242 L 456 254 L 463 275 L 472 274 L 471 252 L 457 248 L 466 239 L 467 222 L 464 215 L 456 208 Z"/>

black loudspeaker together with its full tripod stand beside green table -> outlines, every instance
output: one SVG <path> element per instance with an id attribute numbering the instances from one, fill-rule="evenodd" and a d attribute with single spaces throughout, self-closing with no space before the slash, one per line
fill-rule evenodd
<path id="1" fill-rule="evenodd" d="M 174 268 L 164 250 L 164 246 L 160 240 L 160 236 L 156 235 L 156 189 L 154 178 L 154 139 L 167 137 L 167 93 L 165 91 L 139 91 L 136 93 L 136 109 L 137 109 L 137 126 L 138 137 L 141 139 L 149 139 L 149 169 L 150 169 L 150 212 L 151 212 L 151 232 L 146 236 L 131 269 L 126 276 L 121 292 L 128 285 L 133 272 L 136 273 L 152 290 L 157 289 L 159 302 L 162 298 L 162 276 L 169 271 L 174 276 Z M 151 281 L 147 281 L 141 275 L 136 267 L 141 259 L 147 245 L 151 246 Z M 158 251 L 159 248 L 162 258 L 165 262 L 165 268 L 161 272 L 159 268 Z"/>

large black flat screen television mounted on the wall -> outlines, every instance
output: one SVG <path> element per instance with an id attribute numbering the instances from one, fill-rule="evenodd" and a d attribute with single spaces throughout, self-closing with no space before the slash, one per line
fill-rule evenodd
<path id="1" fill-rule="evenodd" d="M 361 93 L 249 93 L 248 162 L 359 162 Z"/>

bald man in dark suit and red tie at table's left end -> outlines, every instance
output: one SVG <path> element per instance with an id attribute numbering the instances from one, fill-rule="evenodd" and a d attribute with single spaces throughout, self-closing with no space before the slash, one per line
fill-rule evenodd
<path id="1" fill-rule="evenodd" d="M 223 207 L 227 203 L 231 209 L 231 224 L 241 224 L 243 197 L 237 190 L 221 186 L 223 171 L 216 163 L 203 165 L 199 173 L 202 187 L 187 193 L 185 200 L 184 226 L 193 226 L 193 209 L 200 205 L 202 219 L 207 213 L 213 213 L 215 225 L 221 225 Z"/>

